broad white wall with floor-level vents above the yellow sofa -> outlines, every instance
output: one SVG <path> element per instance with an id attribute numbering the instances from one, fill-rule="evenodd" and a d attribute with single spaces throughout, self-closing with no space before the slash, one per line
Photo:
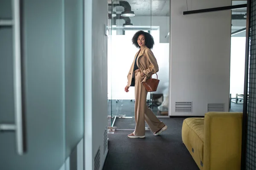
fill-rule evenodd
<path id="1" fill-rule="evenodd" d="M 230 6 L 231 0 L 187 3 L 196 10 Z M 204 115 L 208 103 L 224 103 L 228 111 L 231 11 L 183 15 L 186 10 L 186 0 L 172 0 L 170 115 Z M 192 112 L 175 112 L 179 101 L 192 101 Z"/>

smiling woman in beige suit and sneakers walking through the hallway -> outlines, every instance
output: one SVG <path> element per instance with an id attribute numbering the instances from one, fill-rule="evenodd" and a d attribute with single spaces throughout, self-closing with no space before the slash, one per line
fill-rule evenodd
<path id="1" fill-rule="evenodd" d="M 135 130 L 129 134 L 129 138 L 145 138 L 145 121 L 154 135 L 159 135 L 167 126 L 159 121 L 151 109 L 146 105 L 147 91 L 143 86 L 152 74 L 158 72 L 157 60 L 151 49 L 154 46 L 153 37 L 143 31 L 135 33 L 132 43 L 140 50 L 135 55 L 131 69 L 128 73 L 128 84 L 125 92 L 129 92 L 130 86 L 135 86 Z"/>

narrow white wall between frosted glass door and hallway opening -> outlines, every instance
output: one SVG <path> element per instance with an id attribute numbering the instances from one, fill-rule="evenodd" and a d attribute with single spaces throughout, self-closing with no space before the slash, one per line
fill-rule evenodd
<path id="1" fill-rule="evenodd" d="M 85 170 L 94 169 L 94 156 L 100 147 L 100 169 L 105 161 L 103 133 L 108 126 L 107 105 L 107 36 L 108 1 L 85 0 L 84 35 L 84 145 Z"/>

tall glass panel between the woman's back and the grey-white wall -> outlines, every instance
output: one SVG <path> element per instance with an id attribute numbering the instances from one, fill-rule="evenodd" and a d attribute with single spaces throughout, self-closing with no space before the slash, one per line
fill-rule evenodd
<path id="1" fill-rule="evenodd" d="M 170 1 L 152 1 L 151 12 L 151 35 L 154 37 L 155 45 L 152 49 L 157 63 L 160 79 L 156 92 L 151 92 L 150 108 L 157 116 L 168 116 L 169 110 L 169 14 Z M 153 28 L 157 28 L 154 30 Z M 154 77 L 156 77 L 154 75 Z"/>

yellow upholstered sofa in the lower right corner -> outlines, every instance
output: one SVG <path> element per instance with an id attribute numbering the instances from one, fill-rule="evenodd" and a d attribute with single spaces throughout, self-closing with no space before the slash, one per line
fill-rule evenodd
<path id="1" fill-rule="evenodd" d="M 241 112 L 207 112 L 183 121 L 182 141 L 200 170 L 240 170 L 241 138 Z"/>

